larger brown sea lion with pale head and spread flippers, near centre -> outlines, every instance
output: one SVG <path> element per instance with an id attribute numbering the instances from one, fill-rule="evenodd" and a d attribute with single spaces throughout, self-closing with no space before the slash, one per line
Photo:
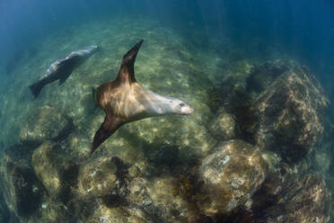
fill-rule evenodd
<path id="1" fill-rule="evenodd" d="M 117 78 L 96 90 L 95 100 L 106 116 L 93 138 L 91 154 L 128 122 L 167 114 L 186 115 L 194 111 L 179 99 L 155 94 L 136 82 L 134 64 L 143 41 L 124 55 Z"/>

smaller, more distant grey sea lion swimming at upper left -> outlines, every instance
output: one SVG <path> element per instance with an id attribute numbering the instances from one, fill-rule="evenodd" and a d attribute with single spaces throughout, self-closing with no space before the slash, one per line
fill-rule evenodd
<path id="1" fill-rule="evenodd" d="M 40 78 L 39 81 L 29 86 L 31 93 L 35 98 L 40 94 L 40 90 L 44 85 L 59 80 L 59 85 L 62 85 L 68 76 L 71 75 L 76 67 L 79 67 L 87 58 L 90 58 L 94 52 L 99 49 L 97 46 L 90 46 L 86 49 L 79 49 L 71 52 L 66 58 L 57 59 L 48 67 L 47 72 Z"/>

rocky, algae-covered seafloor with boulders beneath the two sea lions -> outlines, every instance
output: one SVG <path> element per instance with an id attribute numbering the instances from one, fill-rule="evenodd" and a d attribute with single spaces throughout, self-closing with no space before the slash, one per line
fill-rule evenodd
<path id="1" fill-rule="evenodd" d="M 322 120 L 318 120 L 329 101 L 318 91 L 321 86 L 313 86 L 313 79 L 300 84 L 298 76 L 308 76 L 308 71 L 295 71 L 296 82 L 306 89 L 301 88 L 301 94 L 311 89 L 316 95 L 307 97 L 310 103 L 295 100 L 303 111 L 296 110 L 291 117 L 289 111 L 294 106 L 277 100 L 273 110 L 284 105 L 291 107 L 285 111 L 289 115 L 283 121 L 272 120 L 278 124 L 271 126 L 271 120 L 266 120 L 268 113 L 261 112 L 262 103 L 272 105 L 265 98 L 267 93 L 259 97 L 259 89 L 249 90 L 252 82 L 247 80 L 254 70 L 259 70 L 259 75 L 273 77 L 264 78 L 264 82 L 271 84 L 277 78 L 277 88 L 281 89 L 286 85 L 282 84 L 283 77 L 283 82 L 279 82 L 277 76 L 285 71 L 288 78 L 294 78 L 294 74 L 289 76 L 289 70 L 299 65 L 281 62 L 288 57 L 275 51 L 275 46 L 265 49 L 270 55 L 266 60 L 263 56 L 249 57 L 248 51 L 262 50 L 260 40 L 251 40 L 251 47 L 242 49 L 227 37 L 207 39 L 206 31 L 192 25 L 195 26 L 190 23 L 188 30 L 180 32 L 145 18 L 87 22 L 54 31 L 22 49 L 23 56 L 13 63 L 11 74 L 2 69 L 1 196 L 5 202 L 0 217 L 3 221 L 329 221 L 331 158 L 326 156 L 329 148 L 321 145 L 330 146 L 323 142 Z M 95 108 L 92 88 L 114 79 L 124 53 L 141 39 L 145 41 L 135 65 L 138 83 L 158 94 L 179 98 L 195 112 L 189 116 L 129 123 L 90 157 L 92 137 L 104 119 L 104 113 Z M 57 82 L 46 85 L 40 96 L 33 98 L 28 85 L 38 80 L 52 62 L 92 44 L 100 46 L 101 51 L 78 67 L 64 85 Z M 267 60 L 276 59 L 281 60 L 266 64 Z M 245 95 L 249 97 L 247 100 Z M 312 98 L 319 98 L 321 103 L 313 103 Z M 251 111 L 264 120 L 255 124 L 256 128 L 247 115 Z M 269 115 L 279 116 L 275 112 Z M 51 120 L 53 123 L 48 123 Z M 291 120 L 298 121 L 292 126 Z M 66 131 L 57 136 L 57 129 L 63 124 Z M 284 141 L 281 150 L 265 141 L 266 132 L 277 129 L 283 129 L 280 134 L 287 131 L 286 136 L 281 134 L 277 141 L 272 137 L 268 140 L 278 144 Z M 291 137 L 294 132 L 300 133 L 299 138 Z M 290 142 L 296 152 L 286 146 Z M 283 150 L 285 153 L 280 152 Z M 235 163 L 225 170 L 227 162 Z M 275 178 L 272 173 L 277 171 L 281 175 Z M 277 180 L 282 177 L 285 180 Z M 28 186 L 20 187 L 19 178 Z M 31 189 L 27 189 L 29 183 Z M 231 187 L 227 188 L 229 184 Z M 275 192 L 268 189 L 273 187 Z M 318 197 L 314 201 L 305 200 L 310 194 Z M 292 201 L 296 199 L 300 203 L 294 207 Z M 296 211 L 300 216 L 308 213 L 306 221 Z"/>

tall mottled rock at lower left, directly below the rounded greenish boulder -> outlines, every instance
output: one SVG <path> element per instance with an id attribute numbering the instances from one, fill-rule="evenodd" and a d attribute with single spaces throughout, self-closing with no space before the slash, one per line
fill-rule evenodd
<path id="1" fill-rule="evenodd" d="M 64 156 L 64 151 L 55 142 L 46 141 L 37 147 L 31 156 L 31 165 L 50 197 L 75 184 L 78 167 Z"/>

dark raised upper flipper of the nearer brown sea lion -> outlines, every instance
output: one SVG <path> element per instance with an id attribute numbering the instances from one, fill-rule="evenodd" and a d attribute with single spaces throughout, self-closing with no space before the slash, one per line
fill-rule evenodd
<path id="1" fill-rule="evenodd" d="M 123 56 L 122 66 L 120 67 L 119 75 L 117 76 L 116 81 L 136 82 L 134 68 L 136 54 L 138 53 L 143 41 L 144 40 L 140 40 L 132 49 L 128 50 L 127 53 Z"/>

